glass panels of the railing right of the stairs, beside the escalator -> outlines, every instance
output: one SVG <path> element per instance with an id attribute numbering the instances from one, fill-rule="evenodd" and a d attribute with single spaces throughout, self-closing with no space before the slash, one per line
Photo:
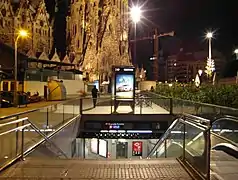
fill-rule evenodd
<path id="1" fill-rule="evenodd" d="M 189 121 L 179 120 L 171 131 L 164 135 L 152 158 L 176 157 L 188 162 L 193 168 L 203 176 L 208 176 L 209 171 L 209 131 L 190 123 Z M 163 140 L 164 139 L 164 140 Z"/>

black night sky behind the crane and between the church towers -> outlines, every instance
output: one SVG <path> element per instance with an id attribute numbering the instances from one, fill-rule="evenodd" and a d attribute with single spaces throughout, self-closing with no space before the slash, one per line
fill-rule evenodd
<path id="1" fill-rule="evenodd" d="M 52 7 L 54 0 L 51 5 Z M 56 46 L 59 51 L 65 51 L 65 16 L 68 0 L 59 0 L 60 10 L 56 13 Z M 140 4 L 139 0 L 134 0 Z M 145 2 L 146 0 L 141 0 Z M 50 3 L 49 3 L 50 4 Z M 162 38 L 160 46 L 165 52 L 174 54 L 183 47 L 187 51 L 196 51 L 207 48 L 204 40 L 206 30 L 214 30 L 213 47 L 223 52 L 228 59 L 233 50 L 238 47 L 238 1 L 236 0 L 147 0 L 143 6 L 143 19 L 138 24 L 137 35 L 148 36 L 157 26 L 160 32 L 174 30 L 175 37 Z M 53 8 L 49 8 L 53 9 Z M 153 44 L 149 41 L 139 42 L 143 53 L 151 54 Z M 150 44 L 150 45 L 149 45 Z M 146 47 L 146 48 L 145 48 Z M 140 57 L 140 54 L 137 53 Z M 139 62 L 144 61 L 138 59 Z"/>

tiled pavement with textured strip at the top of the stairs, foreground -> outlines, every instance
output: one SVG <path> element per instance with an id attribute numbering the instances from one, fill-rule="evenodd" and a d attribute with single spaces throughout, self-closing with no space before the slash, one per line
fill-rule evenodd
<path id="1" fill-rule="evenodd" d="M 0 174 L 0 179 L 61 180 L 192 180 L 175 159 L 59 160 L 26 158 Z"/>

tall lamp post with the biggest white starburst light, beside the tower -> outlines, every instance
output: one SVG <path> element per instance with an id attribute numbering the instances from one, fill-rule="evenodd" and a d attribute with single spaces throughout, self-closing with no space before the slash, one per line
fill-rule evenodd
<path id="1" fill-rule="evenodd" d="M 131 8 L 131 19 L 134 22 L 134 64 L 136 64 L 136 24 L 141 19 L 141 8 L 138 6 L 134 6 Z"/>

